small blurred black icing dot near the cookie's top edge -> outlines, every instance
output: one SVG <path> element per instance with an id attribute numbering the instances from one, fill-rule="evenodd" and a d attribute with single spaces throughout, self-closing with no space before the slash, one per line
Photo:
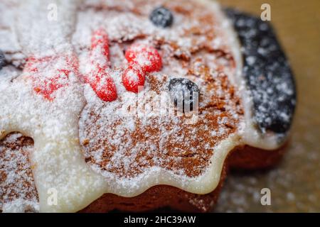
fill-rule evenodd
<path id="1" fill-rule="evenodd" d="M 171 11 L 163 6 L 154 9 L 149 18 L 155 26 L 161 28 L 170 27 L 174 22 L 174 16 Z"/>

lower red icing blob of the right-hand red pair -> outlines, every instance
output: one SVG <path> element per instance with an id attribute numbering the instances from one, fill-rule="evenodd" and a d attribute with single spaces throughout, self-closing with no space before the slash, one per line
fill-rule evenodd
<path id="1" fill-rule="evenodd" d="M 122 74 L 122 83 L 129 92 L 138 93 L 144 86 L 144 72 L 141 67 L 130 65 Z"/>

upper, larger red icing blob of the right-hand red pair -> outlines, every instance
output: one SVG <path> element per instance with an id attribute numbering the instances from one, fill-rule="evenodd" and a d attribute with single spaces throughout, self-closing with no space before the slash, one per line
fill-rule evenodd
<path id="1" fill-rule="evenodd" d="M 151 45 L 134 44 L 125 53 L 125 57 L 132 65 L 139 65 L 144 72 L 161 70 L 162 60 L 158 50 Z"/>

